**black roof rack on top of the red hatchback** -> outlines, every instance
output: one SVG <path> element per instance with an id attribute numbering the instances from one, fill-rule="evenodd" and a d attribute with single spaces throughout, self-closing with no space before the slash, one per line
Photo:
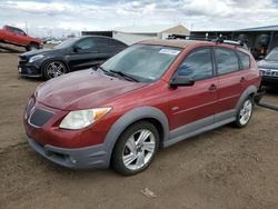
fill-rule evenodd
<path id="1" fill-rule="evenodd" d="M 248 49 L 247 42 L 241 40 L 229 40 L 227 37 L 216 37 L 216 36 L 169 36 L 168 39 L 176 40 L 176 39 L 182 39 L 182 40 L 197 40 L 197 41 L 212 41 L 218 43 L 226 43 L 226 44 L 232 44 L 236 47 L 241 47 L 245 49 Z"/>

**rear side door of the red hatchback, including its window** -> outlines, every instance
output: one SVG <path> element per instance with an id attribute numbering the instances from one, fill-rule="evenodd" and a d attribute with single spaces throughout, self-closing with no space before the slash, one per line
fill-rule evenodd
<path id="1" fill-rule="evenodd" d="M 244 76 L 240 71 L 236 51 L 227 48 L 215 48 L 215 60 L 218 78 L 218 103 L 216 120 L 225 120 L 235 115 L 234 109 L 241 96 Z"/>

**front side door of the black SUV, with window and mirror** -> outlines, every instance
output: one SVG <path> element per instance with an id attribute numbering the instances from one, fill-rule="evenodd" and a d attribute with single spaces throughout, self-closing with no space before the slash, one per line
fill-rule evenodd
<path id="1" fill-rule="evenodd" d="M 88 69 L 99 64 L 98 47 L 93 38 L 88 37 L 79 40 L 73 47 L 68 60 L 71 71 Z"/>

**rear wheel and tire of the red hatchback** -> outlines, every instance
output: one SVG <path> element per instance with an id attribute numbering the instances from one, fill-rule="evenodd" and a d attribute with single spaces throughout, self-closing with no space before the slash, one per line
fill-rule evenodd
<path id="1" fill-rule="evenodd" d="M 251 97 L 248 97 L 240 106 L 236 121 L 232 123 L 237 128 L 244 128 L 246 127 L 252 116 L 254 111 L 254 99 Z"/>

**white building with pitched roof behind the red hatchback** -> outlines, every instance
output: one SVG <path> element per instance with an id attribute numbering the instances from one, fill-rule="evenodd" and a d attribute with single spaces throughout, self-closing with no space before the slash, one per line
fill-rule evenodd
<path id="1" fill-rule="evenodd" d="M 158 38 L 166 39 L 169 36 L 189 36 L 190 31 L 182 24 L 169 26 L 132 26 L 116 28 L 112 30 L 112 38 L 127 44 L 132 44 L 146 39 Z"/>

